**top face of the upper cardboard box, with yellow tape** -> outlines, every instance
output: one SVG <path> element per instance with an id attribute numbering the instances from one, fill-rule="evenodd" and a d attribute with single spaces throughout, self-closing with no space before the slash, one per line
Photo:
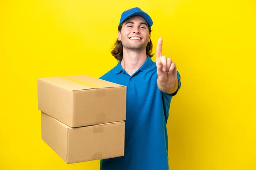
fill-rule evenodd
<path id="1" fill-rule="evenodd" d="M 108 81 L 98 79 L 95 77 L 90 77 L 87 75 L 46 77 L 46 78 L 39 78 L 38 80 L 48 82 L 52 85 L 56 85 L 58 87 L 65 88 L 70 91 L 86 90 L 86 89 L 94 89 L 94 88 L 123 87 L 122 85 L 108 82 Z"/>

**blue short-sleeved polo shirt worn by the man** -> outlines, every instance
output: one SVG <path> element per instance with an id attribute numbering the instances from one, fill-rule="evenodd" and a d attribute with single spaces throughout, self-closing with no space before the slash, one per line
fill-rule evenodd
<path id="1" fill-rule="evenodd" d="M 177 78 L 179 90 L 178 71 Z M 101 170 L 169 170 L 166 123 L 178 90 L 174 94 L 159 90 L 156 63 L 148 56 L 132 76 L 119 61 L 100 79 L 127 87 L 125 156 L 101 160 Z"/>

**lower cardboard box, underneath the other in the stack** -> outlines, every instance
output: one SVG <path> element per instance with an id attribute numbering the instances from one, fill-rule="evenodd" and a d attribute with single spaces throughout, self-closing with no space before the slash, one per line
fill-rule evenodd
<path id="1" fill-rule="evenodd" d="M 68 164 L 124 156 L 125 122 L 72 128 L 41 112 L 41 131 Z"/>

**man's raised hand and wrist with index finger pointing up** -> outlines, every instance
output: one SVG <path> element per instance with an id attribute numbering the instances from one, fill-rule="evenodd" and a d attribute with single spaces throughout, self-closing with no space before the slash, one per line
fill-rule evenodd
<path id="1" fill-rule="evenodd" d="M 157 85 L 163 92 L 172 91 L 177 77 L 177 68 L 172 59 L 162 56 L 163 39 L 157 42 Z"/>

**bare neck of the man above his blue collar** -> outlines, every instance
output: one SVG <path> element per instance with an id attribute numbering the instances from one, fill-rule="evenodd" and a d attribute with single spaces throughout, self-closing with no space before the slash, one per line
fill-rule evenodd
<path id="1" fill-rule="evenodd" d="M 121 66 L 131 76 L 134 74 L 147 59 L 146 51 L 127 51 L 123 50 Z"/>

